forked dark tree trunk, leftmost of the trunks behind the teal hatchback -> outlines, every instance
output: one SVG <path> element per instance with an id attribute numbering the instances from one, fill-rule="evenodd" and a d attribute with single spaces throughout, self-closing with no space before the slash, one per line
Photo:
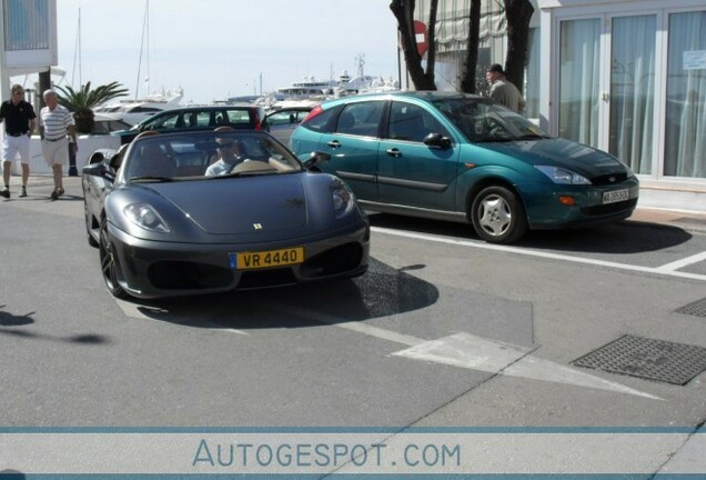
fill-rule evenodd
<path id="1" fill-rule="evenodd" d="M 428 53 L 426 58 L 426 71 L 422 68 L 422 56 L 416 49 L 416 38 L 414 34 L 414 0 L 392 0 L 390 10 L 397 19 L 397 30 L 400 41 L 404 52 L 404 62 L 407 72 L 416 90 L 436 90 L 434 82 L 434 64 L 436 53 L 435 30 L 436 30 L 436 8 L 438 0 L 432 0 L 430 4 L 428 30 Z"/>

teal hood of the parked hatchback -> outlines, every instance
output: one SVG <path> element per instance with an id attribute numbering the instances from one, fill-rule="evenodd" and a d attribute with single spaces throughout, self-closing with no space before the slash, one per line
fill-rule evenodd
<path id="1" fill-rule="evenodd" d="M 483 143 L 483 147 L 533 166 L 567 168 L 586 178 L 626 170 L 625 164 L 615 157 L 565 139 Z"/>

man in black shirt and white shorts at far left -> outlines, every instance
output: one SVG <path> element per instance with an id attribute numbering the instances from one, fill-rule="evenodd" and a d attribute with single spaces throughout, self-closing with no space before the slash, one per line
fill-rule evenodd
<path id="1" fill-rule="evenodd" d="M 22 188 L 20 197 L 27 197 L 27 180 L 29 179 L 30 138 L 37 127 L 37 114 L 31 103 L 24 100 L 24 89 L 21 84 L 11 88 L 12 98 L 0 106 L 0 122 L 4 121 L 4 142 L 2 148 L 2 179 L 4 188 L 0 196 L 10 198 L 10 171 L 12 162 L 20 156 L 22 164 Z"/>

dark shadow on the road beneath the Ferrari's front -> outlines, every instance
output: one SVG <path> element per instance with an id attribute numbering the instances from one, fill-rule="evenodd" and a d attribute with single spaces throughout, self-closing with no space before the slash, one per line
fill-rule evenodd
<path id="1" fill-rule="evenodd" d="M 389 317 L 435 303 L 436 287 L 407 273 L 423 268 L 414 264 L 393 269 L 371 258 L 367 273 L 352 280 L 130 302 L 151 319 L 195 328 L 319 327 Z"/>

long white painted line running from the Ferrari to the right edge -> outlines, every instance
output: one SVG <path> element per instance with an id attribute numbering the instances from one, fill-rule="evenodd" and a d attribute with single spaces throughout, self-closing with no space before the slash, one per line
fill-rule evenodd
<path id="1" fill-rule="evenodd" d="M 641 267 L 641 266 L 633 266 L 628 263 L 618 263 L 618 262 L 611 262 L 605 260 L 587 259 L 583 257 L 571 257 L 571 256 L 561 254 L 561 253 L 526 250 L 526 249 L 522 249 L 517 247 L 498 246 L 493 243 L 481 243 L 481 242 L 473 242 L 468 240 L 456 240 L 456 239 L 450 239 L 444 237 L 436 237 L 432 234 L 412 233 L 412 232 L 402 231 L 402 230 L 386 229 L 382 227 L 372 227 L 371 230 L 374 232 L 383 233 L 383 234 L 405 237 L 405 238 L 412 238 L 417 240 L 426 240 L 426 241 L 433 241 L 438 243 L 448 243 L 448 244 L 456 244 L 462 247 L 473 247 L 473 248 L 478 248 L 483 250 L 494 250 L 494 251 L 516 253 L 516 254 L 522 254 L 527 257 L 538 257 L 538 258 L 546 258 L 552 260 L 563 260 L 563 261 L 569 261 L 574 263 L 586 263 L 586 264 L 608 267 L 608 268 L 614 268 L 619 270 L 638 271 L 644 273 L 654 273 L 654 274 L 660 274 L 660 276 L 678 277 L 678 278 L 686 278 L 692 280 L 706 281 L 706 276 L 698 274 L 698 273 L 663 270 L 662 268 Z"/>

